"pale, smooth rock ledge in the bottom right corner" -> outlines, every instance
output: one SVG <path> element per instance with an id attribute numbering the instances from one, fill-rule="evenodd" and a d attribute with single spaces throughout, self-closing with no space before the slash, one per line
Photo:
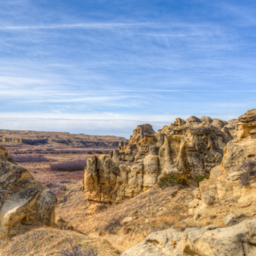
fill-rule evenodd
<path id="1" fill-rule="evenodd" d="M 255 236 L 256 219 L 222 229 L 167 229 L 151 233 L 121 256 L 252 256 Z"/>

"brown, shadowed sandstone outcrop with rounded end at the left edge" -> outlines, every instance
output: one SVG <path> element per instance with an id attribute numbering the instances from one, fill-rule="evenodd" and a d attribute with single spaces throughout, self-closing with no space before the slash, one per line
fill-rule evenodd
<path id="1" fill-rule="evenodd" d="M 55 195 L 23 167 L 16 165 L 0 146 L 0 232 L 14 233 L 18 223 L 55 222 Z M 19 228 L 20 229 L 20 228 Z"/>

